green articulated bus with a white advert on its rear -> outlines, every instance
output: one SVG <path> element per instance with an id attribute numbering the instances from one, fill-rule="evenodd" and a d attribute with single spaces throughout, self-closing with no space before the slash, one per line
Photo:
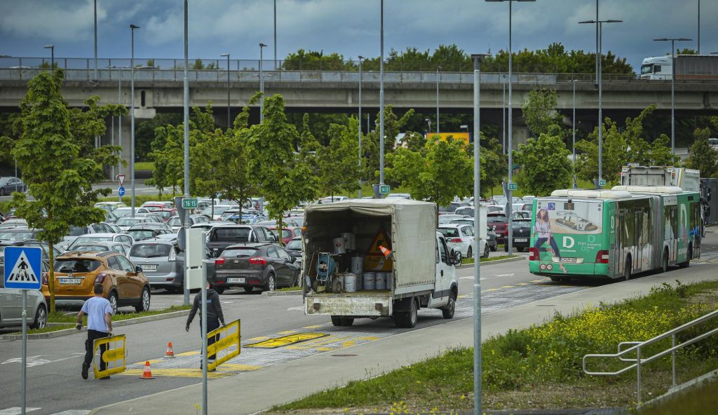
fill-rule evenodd
<path id="1" fill-rule="evenodd" d="M 529 271 L 554 281 L 634 274 L 700 257 L 698 192 L 669 186 L 555 190 L 533 201 Z"/>

